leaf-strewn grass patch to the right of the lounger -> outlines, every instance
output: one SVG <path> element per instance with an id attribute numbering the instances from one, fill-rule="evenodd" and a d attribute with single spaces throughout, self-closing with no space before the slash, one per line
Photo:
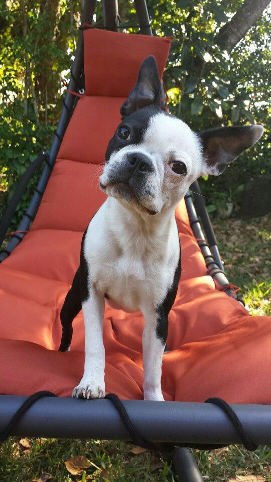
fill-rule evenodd
<path id="1" fill-rule="evenodd" d="M 269 315 L 271 299 L 271 216 L 214 219 L 225 272 L 252 315 Z"/>

